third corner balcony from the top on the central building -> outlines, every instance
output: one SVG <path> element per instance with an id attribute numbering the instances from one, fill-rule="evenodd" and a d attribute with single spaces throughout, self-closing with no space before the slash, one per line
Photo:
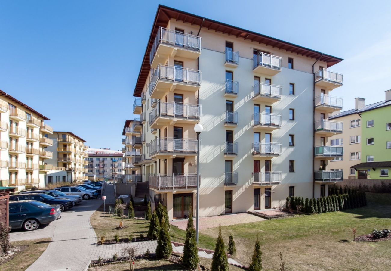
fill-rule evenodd
<path id="1" fill-rule="evenodd" d="M 176 123 L 196 124 L 201 118 L 201 105 L 157 101 L 149 113 L 151 128 L 161 128 Z"/>

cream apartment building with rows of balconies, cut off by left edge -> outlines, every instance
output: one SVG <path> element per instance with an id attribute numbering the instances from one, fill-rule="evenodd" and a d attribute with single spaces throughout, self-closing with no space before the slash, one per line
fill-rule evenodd
<path id="1" fill-rule="evenodd" d="M 0 90 L 0 179 L 1 186 L 16 191 L 45 186 L 47 147 L 53 129 L 47 117 Z"/>

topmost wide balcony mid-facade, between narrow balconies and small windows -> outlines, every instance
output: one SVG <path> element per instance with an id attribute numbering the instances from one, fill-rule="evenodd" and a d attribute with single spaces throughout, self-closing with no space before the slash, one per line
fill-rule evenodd
<path id="1" fill-rule="evenodd" d="M 253 71 L 257 73 L 276 75 L 282 69 L 282 58 L 259 52 L 253 57 Z"/>

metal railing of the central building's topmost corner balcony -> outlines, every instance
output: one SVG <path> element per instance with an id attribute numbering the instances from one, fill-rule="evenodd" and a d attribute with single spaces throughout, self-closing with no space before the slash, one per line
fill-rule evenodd
<path id="1" fill-rule="evenodd" d="M 171 29 L 159 27 L 158 33 L 149 53 L 149 64 L 152 63 L 156 50 L 160 43 L 193 51 L 201 51 L 202 38 L 190 34 L 181 33 Z"/>

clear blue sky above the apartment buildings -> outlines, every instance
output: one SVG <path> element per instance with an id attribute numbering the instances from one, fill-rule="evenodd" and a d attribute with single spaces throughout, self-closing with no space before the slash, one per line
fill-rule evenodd
<path id="1" fill-rule="evenodd" d="M 93 148 L 119 150 L 158 4 L 344 58 L 332 95 L 391 89 L 389 1 L 0 0 L 0 89 Z"/>

